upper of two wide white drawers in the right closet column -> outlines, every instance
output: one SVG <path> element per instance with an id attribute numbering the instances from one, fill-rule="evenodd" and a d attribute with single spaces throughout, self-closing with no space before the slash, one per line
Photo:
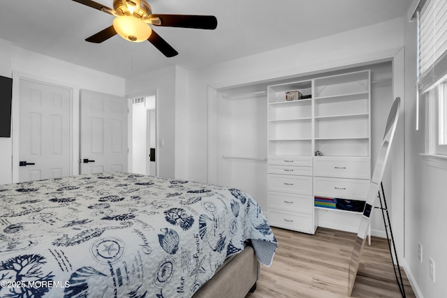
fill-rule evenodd
<path id="1" fill-rule="evenodd" d="M 322 177 L 343 177 L 369 179 L 371 161 L 369 158 L 316 157 L 314 175 Z"/>

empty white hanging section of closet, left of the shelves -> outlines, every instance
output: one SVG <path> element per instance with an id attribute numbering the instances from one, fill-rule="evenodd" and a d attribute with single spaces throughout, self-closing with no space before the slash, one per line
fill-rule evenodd
<path id="1" fill-rule="evenodd" d="M 212 114 L 212 184 L 240 188 L 267 210 L 267 92 L 253 84 L 219 90 Z"/>

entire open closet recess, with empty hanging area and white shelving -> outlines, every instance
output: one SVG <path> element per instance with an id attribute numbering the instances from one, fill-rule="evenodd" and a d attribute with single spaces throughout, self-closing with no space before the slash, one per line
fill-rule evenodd
<path id="1" fill-rule="evenodd" d="M 381 62 L 218 89 L 210 182 L 253 195 L 272 226 L 357 232 L 351 205 L 367 196 L 391 77 L 391 62 Z M 372 234 L 383 233 L 373 218 Z"/>

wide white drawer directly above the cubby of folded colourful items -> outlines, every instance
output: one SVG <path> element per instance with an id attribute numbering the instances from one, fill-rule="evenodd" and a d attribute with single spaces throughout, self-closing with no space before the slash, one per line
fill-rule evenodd
<path id="1" fill-rule="evenodd" d="M 314 177 L 314 195 L 348 200 L 366 200 L 369 180 Z"/>

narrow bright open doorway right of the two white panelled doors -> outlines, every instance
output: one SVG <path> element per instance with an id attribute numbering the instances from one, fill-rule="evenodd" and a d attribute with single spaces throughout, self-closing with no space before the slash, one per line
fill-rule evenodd
<path id="1" fill-rule="evenodd" d="M 131 101 L 131 172 L 157 176 L 156 96 L 142 96 Z"/>

